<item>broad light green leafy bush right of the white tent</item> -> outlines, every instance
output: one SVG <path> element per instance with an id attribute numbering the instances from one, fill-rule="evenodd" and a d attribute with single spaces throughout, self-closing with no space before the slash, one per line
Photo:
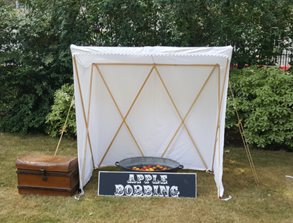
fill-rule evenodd
<path id="1" fill-rule="evenodd" d="M 230 82 L 249 144 L 293 148 L 293 74 L 276 67 L 232 70 Z M 228 89 L 226 128 L 238 123 Z"/>

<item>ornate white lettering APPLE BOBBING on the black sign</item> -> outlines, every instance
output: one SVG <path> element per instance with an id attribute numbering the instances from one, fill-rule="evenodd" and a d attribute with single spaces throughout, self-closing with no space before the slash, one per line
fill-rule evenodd
<path id="1" fill-rule="evenodd" d="M 167 175 L 160 175 L 160 180 L 157 180 L 157 175 L 155 174 L 129 174 L 129 178 L 126 182 L 137 184 L 128 184 L 125 187 L 121 184 L 115 185 L 116 191 L 114 192 L 114 195 L 123 196 L 125 194 L 126 196 L 135 197 L 179 197 L 180 194 L 177 186 L 172 186 L 170 189 L 170 186 L 166 185 Z M 153 183 L 153 185 L 139 185 L 141 183 L 149 184 L 149 182 Z"/>

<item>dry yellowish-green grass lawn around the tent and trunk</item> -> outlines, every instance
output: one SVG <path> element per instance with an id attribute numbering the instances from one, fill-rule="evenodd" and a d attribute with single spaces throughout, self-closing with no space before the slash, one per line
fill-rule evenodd
<path id="1" fill-rule="evenodd" d="M 36 197 L 17 192 L 17 158 L 29 153 L 54 155 L 59 139 L 0 132 L 0 222 L 293 222 L 293 153 L 252 150 L 260 186 L 244 148 L 226 148 L 224 197 L 217 198 L 213 175 L 197 173 L 197 199 L 98 197 L 93 171 L 80 201 L 74 197 Z M 62 139 L 58 155 L 77 155 L 76 141 Z M 117 160 L 119 161 L 119 160 Z"/>

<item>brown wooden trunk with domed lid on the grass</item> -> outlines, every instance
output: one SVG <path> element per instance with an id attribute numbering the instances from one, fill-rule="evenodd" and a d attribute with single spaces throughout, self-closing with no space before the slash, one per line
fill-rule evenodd
<path id="1" fill-rule="evenodd" d="M 80 188 L 77 157 L 29 154 L 15 167 L 19 194 L 72 196 Z"/>

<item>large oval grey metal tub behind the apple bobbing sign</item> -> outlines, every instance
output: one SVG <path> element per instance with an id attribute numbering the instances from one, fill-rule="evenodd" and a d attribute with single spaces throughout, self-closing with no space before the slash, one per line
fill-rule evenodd
<path id="1" fill-rule="evenodd" d="M 156 166 L 158 164 L 162 167 L 170 168 L 166 170 L 159 170 L 159 172 L 177 172 L 178 169 L 183 169 L 183 165 L 179 164 L 179 162 L 175 160 L 167 159 L 167 158 L 161 158 L 161 157 L 130 157 L 115 163 L 117 167 L 120 167 L 121 171 L 137 171 L 137 172 L 144 172 L 144 171 L 133 169 L 133 167 L 142 168 L 143 166 L 147 166 L 147 165 Z M 149 171 L 146 171 L 146 172 L 149 172 Z"/>

